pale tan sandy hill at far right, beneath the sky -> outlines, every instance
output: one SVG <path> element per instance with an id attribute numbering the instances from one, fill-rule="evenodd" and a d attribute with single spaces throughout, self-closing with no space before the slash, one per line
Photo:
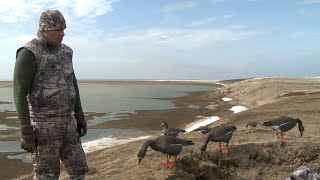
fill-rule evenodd
<path id="1" fill-rule="evenodd" d="M 232 83 L 219 93 L 234 98 L 236 103 L 258 107 L 290 96 L 320 93 L 319 82 L 320 78 L 253 78 Z"/>

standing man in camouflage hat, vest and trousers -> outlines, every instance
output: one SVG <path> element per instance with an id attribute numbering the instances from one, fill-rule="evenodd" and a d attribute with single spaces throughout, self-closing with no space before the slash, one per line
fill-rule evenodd
<path id="1" fill-rule="evenodd" d="M 87 124 L 73 71 L 73 52 L 61 43 L 65 28 L 60 11 L 44 11 L 38 37 L 16 54 L 14 101 L 21 148 L 32 153 L 34 179 L 58 179 L 60 160 L 68 179 L 84 179 L 88 171 L 80 140 L 87 133 Z"/>

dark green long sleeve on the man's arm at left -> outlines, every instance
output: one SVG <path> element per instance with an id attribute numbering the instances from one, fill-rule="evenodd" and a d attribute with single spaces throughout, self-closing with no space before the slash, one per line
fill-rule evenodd
<path id="1" fill-rule="evenodd" d="M 33 53 L 26 48 L 19 49 L 14 67 L 13 96 L 21 125 L 30 125 L 27 95 L 30 92 L 35 71 L 36 58 Z"/>

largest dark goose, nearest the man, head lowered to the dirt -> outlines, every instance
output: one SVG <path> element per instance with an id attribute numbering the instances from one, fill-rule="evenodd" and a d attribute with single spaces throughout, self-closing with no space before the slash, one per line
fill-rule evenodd
<path id="1" fill-rule="evenodd" d="M 151 149 L 167 155 L 167 161 L 164 161 L 161 164 L 171 168 L 176 165 L 177 156 L 182 153 L 185 148 L 193 144 L 194 143 L 191 140 L 180 139 L 172 136 L 160 136 L 155 140 L 148 140 L 142 145 L 138 152 L 139 164 L 146 155 L 147 149 L 150 146 Z M 172 163 L 169 162 L 171 156 L 174 156 Z"/>

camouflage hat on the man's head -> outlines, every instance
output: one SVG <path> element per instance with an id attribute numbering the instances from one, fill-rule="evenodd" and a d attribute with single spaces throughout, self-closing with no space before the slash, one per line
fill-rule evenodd
<path id="1" fill-rule="evenodd" d="M 66 28 L 66 21 L 59 10 L 42 12 L 39 20 L 40 31 L 62 30 Z"/>

